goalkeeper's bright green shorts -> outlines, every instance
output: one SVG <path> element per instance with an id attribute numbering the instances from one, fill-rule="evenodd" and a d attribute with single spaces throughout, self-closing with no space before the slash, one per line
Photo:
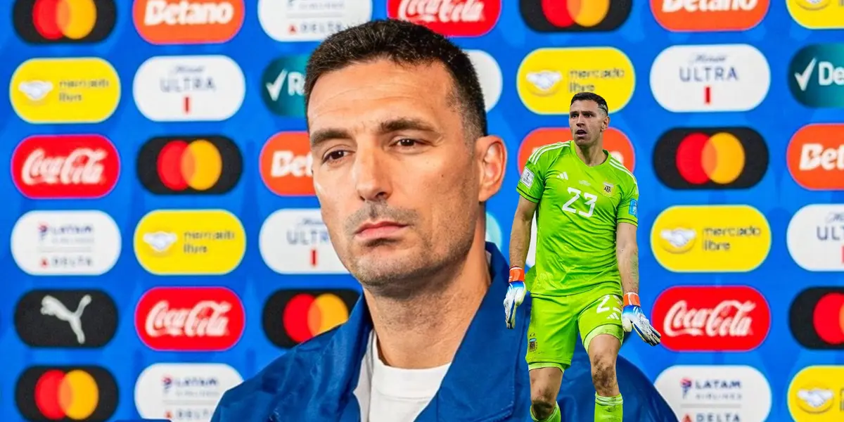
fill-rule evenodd
<path id="1" fill-rule="evenodd" d="M 619 284 L 607 283 L 576 295 L 531 295 L 527 327 L 528 369 L 568 369 L 577 346 L 578 332 L 587 351 L 589 342 L 598 334 L 609 334 L 622 341 L 620 294 Z"/>

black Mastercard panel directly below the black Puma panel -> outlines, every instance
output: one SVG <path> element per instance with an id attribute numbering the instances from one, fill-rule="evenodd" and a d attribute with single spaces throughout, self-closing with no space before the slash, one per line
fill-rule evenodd
<path id="1" fill-rule="evenodd" d="M 114 377 L 97 366 L 32 367 L 16 390 L 20 413 L 29 420 L 106 420 L 117 405 Z"/>

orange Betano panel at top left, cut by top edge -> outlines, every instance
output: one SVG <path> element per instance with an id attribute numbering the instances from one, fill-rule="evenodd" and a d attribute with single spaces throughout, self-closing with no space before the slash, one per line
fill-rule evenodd
<path id="1" fill-rule="evenodd" d="M 219 44 L 241 30 L 243 0 L 135 0 L 135 30 L 150 44 Z"/>

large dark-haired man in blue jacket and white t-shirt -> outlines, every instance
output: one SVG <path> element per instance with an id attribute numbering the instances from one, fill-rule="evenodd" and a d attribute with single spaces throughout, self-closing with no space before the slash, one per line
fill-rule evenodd
<path id="1" fill-rule="evenodd" d="M 322 219 L 363 297 L 226 392 L 214 422 L 529 420 L 530 306 L 507 329 L 509 266 L 484 242 L 506 148 L 467 55 L 419 25 L 361 24 L 313 52 L 305 98 Z M 676 420 L 640 371 L 617 371 L 625 420 Z M 568 381 L 564 419 L 592 420 L 591 375 Z"/>

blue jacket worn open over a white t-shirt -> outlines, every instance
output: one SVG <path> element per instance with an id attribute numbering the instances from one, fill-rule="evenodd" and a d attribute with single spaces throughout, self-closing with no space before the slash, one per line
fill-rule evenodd
<path id="1" fill-rule="evenodd" d="M 530 421 L 527 322 L 530 301 L 517 309 L 515 329 L 504 323 L 502 302 L 510 268 L 498 248 L 490 252 L 492 284 L 475 314 L 440 390 L 417 422 Z M 361 360 L 372 329 L 361 297 L 349 321 L 300 344 L 220 400 L 212 422 L 360 422 L 354 397 Z M 589 358 L 578 348 L 560 388 L 564 421 L 592 422 L 595 390 Z M 676 421 L 668 403 L 629 361 L 619 356 L 616 371 L 625 421 Z"/>

